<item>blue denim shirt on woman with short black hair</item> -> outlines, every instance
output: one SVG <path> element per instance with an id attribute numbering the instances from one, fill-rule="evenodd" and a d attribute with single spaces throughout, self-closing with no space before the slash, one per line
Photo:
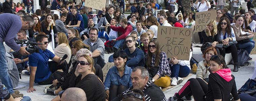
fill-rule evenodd
<path id="1" fill-rule="evenodd" d="M 123 86 L 126 86 L 127 88 L 130 88 L 132 86 L 132 81 L 130 78 L 131 73 L 132 73 L 131 67 L 128 67 L 127 65 L 125 65 L 124 75 L 120 77 L 117 67 L 113 66 L 107 72 L 107 76 L 104 82 L 105 90 L 109 90 L 111 85 L 117 85 L 117 86 L 123 85 Z"/>

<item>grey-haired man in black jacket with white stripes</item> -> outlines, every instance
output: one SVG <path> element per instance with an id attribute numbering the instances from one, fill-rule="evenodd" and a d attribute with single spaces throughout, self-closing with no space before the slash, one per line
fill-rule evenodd
<path id="1" fill-rule="evenodd" d="M 167 101 L 162 90 L 149 79 L 149 72 L 145 67 L 138 66 L 132 69 L 132 87 L 118 95 L 112 101 L 120 101 L 131 92 L 132 89 L 140 89 L 144 93 L 146 101 Z"/>

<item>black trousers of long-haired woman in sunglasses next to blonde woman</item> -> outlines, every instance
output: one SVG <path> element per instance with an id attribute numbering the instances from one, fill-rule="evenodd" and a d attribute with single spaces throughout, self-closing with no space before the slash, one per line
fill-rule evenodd
<path id="1" fill-rule="evenodd" d="M 223 50 L 220 49 L 220 54 L 225 58 L 226 53 L 231 53 L 234 63 L 238 62 L 237 58 L 237 48 L 235 44 L 230 45 L 227 48 L 223 47 Z"/>

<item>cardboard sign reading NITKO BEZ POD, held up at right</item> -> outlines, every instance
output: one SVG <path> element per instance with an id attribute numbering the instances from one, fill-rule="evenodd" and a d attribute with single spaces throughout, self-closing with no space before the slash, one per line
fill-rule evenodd
<path id="1" fill-rule="evenodd" d="M 196 12 L 195 17 L 195 32 L 201 32 L 209 21 L 216 21 L 216 10 Z"/>

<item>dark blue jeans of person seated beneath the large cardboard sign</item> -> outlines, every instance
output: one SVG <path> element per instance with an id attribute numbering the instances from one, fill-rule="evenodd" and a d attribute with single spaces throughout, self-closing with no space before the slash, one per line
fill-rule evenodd
<path id="1" fill-rule="evenodd" d="M 175 64 L 173 66 L 170 66 L 171 69 L 171 77 L 186 77 L 188 76 L 190 69 L 188 66 L 182 66 L 179 64 Z"/>

